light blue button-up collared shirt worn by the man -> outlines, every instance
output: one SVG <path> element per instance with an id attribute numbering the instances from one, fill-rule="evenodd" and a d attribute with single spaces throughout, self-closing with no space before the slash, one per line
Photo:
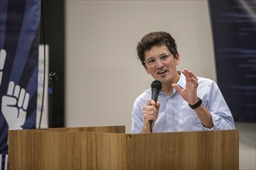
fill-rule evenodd
<path id="1" fill-rule="evenodd" d="M 171 96 L 162 92 L 158 95 L 160 110 L 157 121 L 154 123 L 153 132 L 230 130 L 235 128 L 234 118 L 217 84 L 213 80 L 202 77 L 198 77 L 198 82 L 197 95 L 212 115 L 214 127 L 212 129 L 203 127 L 195 110 L 192 110 L 188 102 L 173 89 Z M 177 84 L 180 87 L 185 87 L 185 76 L 182 73 Z M 137 97 L 133 104 L 133 133 L 140 133 L 143 128 L 142 110 L 150 97 L 151 89 L 147 89 Z"/>

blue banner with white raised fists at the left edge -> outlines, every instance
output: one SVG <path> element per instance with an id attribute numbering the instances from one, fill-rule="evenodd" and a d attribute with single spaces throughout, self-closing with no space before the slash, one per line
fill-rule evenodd
<path id="1" fill-rule="evenodd" d="M 0 0 L 0 164 L 8 131 L 36 127 L 40 0 Z"/>

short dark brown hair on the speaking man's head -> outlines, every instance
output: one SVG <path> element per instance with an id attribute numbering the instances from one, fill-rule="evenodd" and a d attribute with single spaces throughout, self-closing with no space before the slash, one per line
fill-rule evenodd
<path id="1" fill-rule="evenodd" d="M 137 45 L 137 54 L 140 58 L 142 65 L 145 65 L 145 51 L 150 50 L 153 46 L 167 46 L 170 52 L 175 57 L 177 53 L 177 45 L 175 39 L 171 37 L 168 32 L 150 32 L 144 36 Z"/>

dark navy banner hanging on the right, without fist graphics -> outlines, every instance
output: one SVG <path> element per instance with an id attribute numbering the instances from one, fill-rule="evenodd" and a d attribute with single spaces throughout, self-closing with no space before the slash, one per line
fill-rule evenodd
<path id="1" fill-rule="evenodd" d="M 217 82 L 235 121 L 256 122 L 255 8 L 255 0 L 209 0 Z"/>

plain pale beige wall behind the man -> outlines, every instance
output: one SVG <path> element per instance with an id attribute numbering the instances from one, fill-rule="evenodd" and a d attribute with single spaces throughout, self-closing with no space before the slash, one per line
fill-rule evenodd
<path id="1" fill-rule="evenodd" d="M 154 31 L 176 39 L 178 69 L 216 80 L 207 1 L 66 1 L 67 127 L 125 125 L 130 133 L 133 101 L 153 80 L 136 46 Z M 244 145 L 241 152 L 255 158 Z M 255 168 L 241 157 L 240 168 Z"/>

